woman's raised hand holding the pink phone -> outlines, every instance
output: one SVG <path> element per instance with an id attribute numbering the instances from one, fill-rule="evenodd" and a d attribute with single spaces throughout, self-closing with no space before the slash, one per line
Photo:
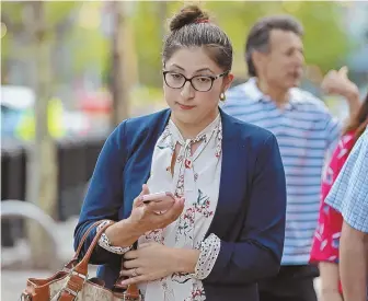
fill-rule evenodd
<path id="1" fill-rule="evenodd" d="M 142 202 L 141 197 L 149 194 L 150 192 L 148 186 L 145 184 L 142 186 L 142 192 L 134 200 L 133 210 L 129 217 L 130 222 L 136 225 L 141 234 L 168 227 L 181 216 L 184 209 L 184 199 L 175 198 L 171 208 L 163 213 L 158 213 L 158 211 L 160 211 L 160 207 L 156 201 L 151 201 L 148 205 Z"/>

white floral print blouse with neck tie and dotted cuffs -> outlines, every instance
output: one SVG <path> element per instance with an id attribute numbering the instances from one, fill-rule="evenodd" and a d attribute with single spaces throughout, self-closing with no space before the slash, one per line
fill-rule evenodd
<path id="1" fill-rule="evenodd" d="M 195 139 L 187 140 L 170 120 L 156 143 L 147 183 L 150 193 L 171 192 L 176 197 L 184 197 L 185 206 L 175 222 L 141 236 L 138 247 L 142 243 L 158 242 L 170 247 L 197 248 L 200 255 L 194 274 L 174 274 L 139 285 L 145 301 L 206 300 L 202 280 L 211 271 L 220 251 L 219 238 L 214 233 L 205 236 L 218 202 L 221 144 L 220 115 Z M 197 146 L 194 152 L 193 146 Z M 106 241 L 103 235 L 99 244 L 113 253 L 124 254 L 129 250 L 110 246 Z"/>

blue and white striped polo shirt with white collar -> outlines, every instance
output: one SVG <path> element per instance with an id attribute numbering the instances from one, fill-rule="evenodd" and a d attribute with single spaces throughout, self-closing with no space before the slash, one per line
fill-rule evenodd
<path id="1" fill-rule="evenodd" d="M 280 109 L 257 89 L 256 80 L 252 78 L 228 91 L 222 108 L 276 136 L 287 186 L 281 264 L 306 265 L 319 216 L 325 157 L 335 147 L 341 126 L 324 103 L 312 94 L 297 88 L 289 94 L 289 103 Z"/>

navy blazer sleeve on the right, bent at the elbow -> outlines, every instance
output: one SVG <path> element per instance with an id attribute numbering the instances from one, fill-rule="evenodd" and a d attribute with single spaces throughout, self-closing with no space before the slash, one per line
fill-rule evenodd
<path id="1" fill-rule="evenodd" d="M 204 282 L 242 285 L 276 275 L 280 267 L 286 216 L 286 181 L 278 143 L 271 135 L 258 151 L 248 216 L 238 242 L 221 241 Z"/>

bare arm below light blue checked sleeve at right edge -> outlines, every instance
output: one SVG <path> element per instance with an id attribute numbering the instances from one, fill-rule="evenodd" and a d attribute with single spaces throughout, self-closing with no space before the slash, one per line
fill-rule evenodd
<path id="1" fill-rule="evenodd" d="M 344 221 L 340 245 L 340 273 L 345 301 L 367 300 L 367 233 Z"/>

